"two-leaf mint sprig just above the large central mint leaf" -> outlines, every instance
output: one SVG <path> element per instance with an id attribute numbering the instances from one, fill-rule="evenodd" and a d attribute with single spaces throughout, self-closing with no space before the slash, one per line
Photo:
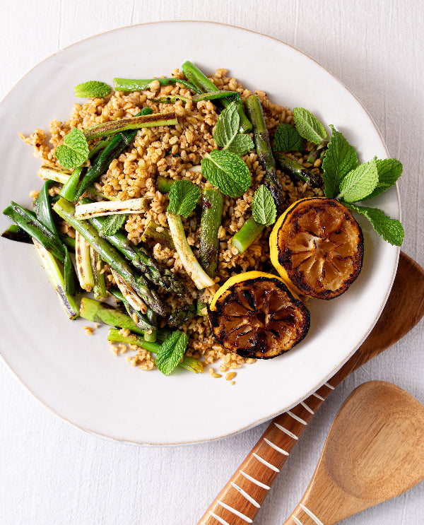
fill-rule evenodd
<path id="1" fill-rule="evenodd" d="M 216 123 L 213 139 L 218 146 L 237 155 L 245 155 L 254 147 L 249 135 L 240 134 L 240 114 L 237 110 L 237 102 L 231 102 L 223 110 Z"/>

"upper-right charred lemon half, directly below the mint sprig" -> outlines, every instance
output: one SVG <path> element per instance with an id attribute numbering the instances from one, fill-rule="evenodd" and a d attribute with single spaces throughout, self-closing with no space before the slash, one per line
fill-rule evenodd
<path id="1" fill-rule="evenodd" d="M 363 233 L 336 199 L 296 201 L 269 237 L 271 262 L 302 295 L 333 299 L 349 288 L 363 264 Z"/>

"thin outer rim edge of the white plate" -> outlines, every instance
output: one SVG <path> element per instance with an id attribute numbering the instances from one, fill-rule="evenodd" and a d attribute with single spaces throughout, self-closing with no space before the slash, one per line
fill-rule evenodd
<path id="1" fill-rule="evenodd" d="M 8 93 L 6 93 L 6 95 L 4 96 L 4 98 L 2 98 L 2 100 L 0 101 L 0 105 L 3 104 L 6 99 L 8 98 L 8 95 L 11 94 L 11 92 L 23 81 L 25 81 L 25 78 L 30 75 L 30 73 L 36 69 L 37 67 L 41 66 L 45 61 L 48 61 L 49 59 L 52 59 L 52 57 L 56 57 L 57 55 L 61 54 L 61 52 L 64 52 L 66 49 L 69 49 L 70 47 L 73 47 L 73 46 L 76 46 L 78 44 L 81 44 L 81 42 L 86 42 L 87 40 L 90 40 L 90 39 L 95 39 L 96 37 L 100 37 L 102 35 L 107 35 L 108 33 L 114 33 L 115 31 L 119 31 L 119 30 L 123 30 L 123 29 L 129 29 L 129 28 L 136 28 L 136 27 L 143 27 L 143 26 L 146 26 L 146 25 L 158 25 L 158 24 L 181 24 L 181 23 L 196 23 L 196 24 L 205 24 L 205 25 L 220 25 L 220 26 L 225 26 L 225 27 L 228 27 L 228 28 L 234 28 L 234 29 L 237 29 L 237 30 L 241 30 L 241 31 L 244 31 L 246 33 L 254 33 L 255 35 L 259 35 L 261 37 L 264 37 L 266 39 L 271 39 L 271 40 L 274 40 L 275 42 L 278 42 L 279 45 L 284 45 L 285 47 L 289 47 L 293 50 L 295 50 L 295 52 L 298 52 L 302 55 L 304 55 L 305 57 L 307 57 L 307 59 L 309 59 L 310 61 L 314 62 L 314 64 L 317 64 L 317 66 L 319 66 L 320 68 L 324 69 L 324 71 L 326 71 L 326 73 L 328 73 L 331 77 L 333 77 L 336 82 L 341 85 L 350 95 L 352 98 L 354 98 L 358 104 L 363 108 L 363 111 L 367 114 L 367 117 L 369 117 L 370 119 L 370 122 L 372 122 L 372 125 L 374 126 L 375 128 L 375 131 L 377 131 L 377 134 L 379 136 L 379 139 L 380 141 L 382 142 L 382 145 L 384 146 L 384 150 L 386 151 L 387 153 L 387 156 L 389 157 L 389 152 L 387 151 L 387 146 L 384 142 L 384 139 L 382 138 L 382 134 L 380 133 L 377 125 L 375 124 L 375 121 L 374 119 L 371 117 L 370 113 L 367 111 L 367 109 L 364 107 L 363 103 L 358 99 L 358 97 L 356 97 L 356 95 L 354 93 L 351 92 L 351 90 L 343 83 L 343 81 L 341 81 L 339 78 L 337 78 L 333 73 L 331 73 L 331 71 L 329 71 L 328 69 L 326 69 L 326 67 L 322 66 L 322 64 L 320 64 L 317 60 L 313 59 L 312 57 L 310 57 L 309 54 L 305 53 L 305 52 L 302 52 L 300 49 L 288 44 L 287 42 L 283 42 L 282 40 L 278 40 L 276 37 L 271 37 L 269 35 L 265 35 L 264 33 L 259 33 L 257 31 L 254 31 L 254 30 L 249 30 L 249 29 L 246 29 L 246 28 L 240 28 L 239 26 L 237 25 L 232 25 L 232 24 L 225 24 L 225 23 L 218 23 L 218 22 L 209 22 L 209 21 L 206 21 L 206 20 L 160 20 L 158 22 L 148 22 L 148 23 L 141 23 L 141 24 L 133 24 L 133 25 L 126 25 L 126 26 L 123 26 L 121 28 L 114 28 L 114 29 L 111 29 L 111 30 L 107 30 L 107 31 L 104 31 L 102 33 L 98 33 L 98 34 L 95 34 L 95 35 L 91 35 L 90 37 L 86 37 L 86 38 L 83 38 L 81 40 L 78 40 L 77 42 L 73 42 L 72 44 L 62 48 L 62 49 L 59 49 L 57 52 L 54 52 L 53 54 L 50 54 L 48 57 L 45 57 L 45 59 L 42 59 L 40 62 L 38 62 L 37 64 L 35 64 L 35 66 L 33 66 L 30 70 L 27 71 L 27 73 L 25 73 L 25 75 L 23 75 L 12 87 L 10 90 L 8 90 Z M 396 182 L 396 197 L 397 197 L 397 208 L 398 208 L 398 211 L 399 211 L 399 220 L 401 219 L 401 202 L 400 202 L 400 194 L 399 194 L 399 186 Z M 18 379 L 18 381 L 20 382 L 20 384 L 23 385 L 23 387 L 25 387 L 25 389 L 27 389 L 28 391 L 30 391 L 30 394 L 32 394 L 35 399 L 42 404 L 42 406 L 44 406 L 45 408 L 47 408 L 51 413 L 53 413 L 54 415 L 57 415 L 57 417 L 61 418 L 62 420 L 66 421 L 66 423 L 69 423 L 69 425 L 72 425 L 73 427 L 76 427 L 78 428 L 78 430 L 82 430 L 83 432 L 86 432 L 90 435 L 95 435 L 96 437 L 100 437 L 102 439 L 105 439 L 105 440 L 108 440 L 108 441 L 112 441 L 112 442 L 116 442 L 116 443 L 119 443 L 119 444 L 126 444 L 126 445 L 136 445 L 136 446 L 155 446 L 155 447 L 161 447 L 161 446 L 164 446 L 164 447 L 169 447 L 169 446 L 182 446 L 182 445 L 186 445 L 186 444 L 196 444 L 196 443 L 203 443 L 203 442 L 210 442 L 210 441 L 214 441 L 214 440 L 220 440 L 220 439 L 223 439 L 225 437 L 230 437 L 231 435 L 235 435 L 239 432 L 244 432 L 245 430 L 249 430 L 250 428 L 252 427 L 255 427 L 261 423 L 266 423 L 266 421 L 269 421 L 271 420 L 272 418 L 276 417 L 277 415 L 285 412 L 285 411 L 288 411 L 290 410 L 290 408 L 293 408 L 293 406 L 296 406 L 298 403 L 300 403 L 301 401 L 303 401 L 303 399 L 307 399 L 308 396 L 310 396 L 312 394 L 312 392 L 316 391 L 317 389 L 319 389 L 319 387 L 321 387 L 325 382 L 328 381 L 329 378 L 331 378 L 343 365 L 344 363 L 349 359 L 351 358 L 351 356 L 355 353 L 355 351 L 359 348 L 359 346 L 363 343 L 363 341 L 365 341 L 365 339 L 367 338 L 368 334 L 370 334 L 370 331 L 372 331 L 373 327 L 375 326 L 375 324 L 377 323 L 377 320 L 379 319 L 379 316 L 381 315 L 382 313 L 382 310 L 384 309 L 384 305 L 386 304 L 387 302 L 387 299 L 389 297 L 389 294 L 390 294 L 390 291 L 391 291 L 391 287 L 394 283 L 394 278 L 396 276 L 396 270 L 397 270 L 397 266 L 398 266 L 398 263 L 399 263 L 399 254 L 400 254 L 400 248 L 398 247 L 397 250 L 396 250 L 396 257 L 395 257 L 395 264 L 394 264 L 394 267 L 392 269 L 392 275 L 391 275 L 391 284 L 389 285 L 389 289 L 387 290 L 387 294 L 385 295 L 384 297 L 384 300 L 382 302 L 382 305 L 379 309 L 379 312 L 378 314 L 376 315 L 374 321 L 372 322 L 372 326 L 370 326 L 370 329 L 369 331 L 367 331 L 367 334 L 365 334 L 365 336 L 361 339 L 360 343 L 355 346 L 355 348 L 353 348 L 353 350 L 351 351 L 351 353 L 349 353 L 349 355 L 346 357 L 346 359 L 344 359 L 342 362 L 340 362 L 338 365 L 336 365 L 336 367 L 334 367 L 333 370 L 331 370 L 331 372 L 320 382 L 318 382 L 307 394 L 305 394 L 305 396 L 302 396 L 300 399 L 298 399 L 297 401 L 295 401 L 295 403 L 293 404 L 290 404 L 290 406 L 286 406 L 284 408 L 281 409 L 281 411 L 276 411 L 275 413 L 271 413 L 269 415 L 265 415 L 263 418 L 259 418 L 258 420 L 254 421 L 253 423 L 249 423 L 248 425 L 244 425 L 240 428 L 237 428 L 236 430 L 232 430 L 231 432 L 228 432 L 226 434 L 222 434 L 222 435 L 217 435 L 217 436 L 214 436 L 214 437 L 208 437 L 208 438 L 205 438 L 205 439 L 202 439 L 202 440 L 194 440 L 194 441 L 182 441 L 182 442 L 155 442 L 155 443 L 151 443 L 151 442 L 137 442 L 137 441 L 128 441 L 128 440 L 124 440 L 124 439 L 119 439 L 117 437 L 112 437 L 112 436 L 108 436 L 108 435 L 105 435 L 105 434 L 102 434 L 102 433 L 99 433 L 99 432 L 95 432 L 93 430 L 90 430 L 88 428 L 85 428 L 85 427 L 82 427 L 80 425 L 77 425 L 76 423 L 73 423 L 72 421 L 68 420 L 66 417 L 64 417 L 64 415 L 61 415 L 59 413 L 57 413 L 56 411 L 54 411 L 53 408 L 51 408 L 49 405 L 47 405 L 47 403 L 45 401 L 42 401 L 26 384 L 25 382 L 23 381 L 23 379 L 21 379 L 21 377 L 18 375 L 18 373 L 13 370 L 13 368 L 11 367 L 11 365 L 9 365 L 9 363 L 7 362 L 6 358 L 4 358 L 4 355 L 2 355 L 0 353 L 0 357 L 1 357 L 1 360 L 3 360 L 3 362 L 7 365 L 8 367 L 8 370 L 10 370 L 13 375 Z"/>

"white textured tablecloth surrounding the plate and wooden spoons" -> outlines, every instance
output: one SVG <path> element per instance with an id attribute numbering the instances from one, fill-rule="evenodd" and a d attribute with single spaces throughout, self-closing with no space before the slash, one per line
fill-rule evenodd
<path id="1" fill-rule="evenodd" d="M 363 102 L 389 153 L 404 164 L 399 184 L 406 230 L 403 249 L 424 266 L 421 1 L 0 0 L 0 7 L 0 99 L 28 69 L 61 47 L 136 23 L 228 23 L 310 54 Z M 255 524 L 281 524 L 288 517 L 314 471 L 331 420 L 358 384 L 391 381 L 424 403 L 423 343 L 421 322 L 331 394 L 290 455 Z M 52 415 L 0 361 L 0 523 L 195 524 L 265 427 L 187 447 L 114 444 Z M 418 525 L 423 514 L 424 483 L 346 524 Z"/>

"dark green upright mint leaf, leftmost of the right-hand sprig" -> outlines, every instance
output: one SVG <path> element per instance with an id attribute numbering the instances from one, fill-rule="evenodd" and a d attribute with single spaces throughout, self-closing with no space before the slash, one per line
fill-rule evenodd
<path id="1" fill-rule="evenodd" d="M 338 194 L 340 183 L 348 172 L 358 166 L 355 148 L 346 141 L 340 131 L 334 129 L 331 124 L 330 127 L 333 134 L 322 161 L 324 192 L 329 199 Z"/>

